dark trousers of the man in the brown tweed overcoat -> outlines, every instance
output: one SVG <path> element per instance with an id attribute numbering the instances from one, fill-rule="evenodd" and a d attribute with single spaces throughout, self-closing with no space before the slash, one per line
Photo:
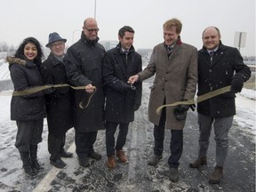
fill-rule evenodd
<path id="1" fill-rule="evenodd" d="M 165 131 L 165 110 L 162 111 L 159 125 L 154 126 L 154 139 L 155 147 L 154 154 L 156 156 L 162 156 L 164 151 L 164 131 Z M 171 142 L 170 142 L 171 156 L 168 158 L 168 164 L 172 168 L 179 166 L 180 156 L 183 150 L 183 130 L 171 130 Z"/>

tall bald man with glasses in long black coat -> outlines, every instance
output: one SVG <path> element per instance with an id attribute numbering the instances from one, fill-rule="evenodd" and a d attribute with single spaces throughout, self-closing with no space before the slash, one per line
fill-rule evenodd
<path id="1" fill-rule="evenodd" d="M 90 157 L 100 160 L 93 144 L 98 130 L 105 128 L 101 71 L 105 48 L 98 43 L 99 30 L 96 20 L 84 20 L 81 38 L 68 48 L 64 59 L 69 84 L 84 87 L 75 91 L 76 154 L 84 167 L 90 166 Z"/>

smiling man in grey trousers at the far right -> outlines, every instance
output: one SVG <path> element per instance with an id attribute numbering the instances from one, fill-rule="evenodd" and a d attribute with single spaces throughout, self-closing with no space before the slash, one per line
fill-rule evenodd
<path id="1" fill-rule="evenodd" d="M 236 115 L 236 93 L 242 91 L 244 82 L 251 76 L 251 70 L 244 65 L 243 58 L 236 48 L 221 43 L 219 28 L 205 28 L 202 39 L 204 46 L 198 51 L 197 96 L 228 85 L 231 85 L 231 91 L 198 103 L 198 158 L 189 166 L 198 168 L 206 164 L 206 153 L 213 127 L 216 166 L 209 177 L 209 182 L 217 184 L 223 177 L 223 166 L 228 156 L 228 132 Z"/>

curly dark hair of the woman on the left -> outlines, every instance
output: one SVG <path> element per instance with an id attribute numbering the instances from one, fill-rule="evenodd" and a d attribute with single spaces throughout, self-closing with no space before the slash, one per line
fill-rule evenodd
<path id="1" fill-rule="evenodd" d="M 37 56 L 36 58 L 33 60 L 34 63 L 37 65 L 37 66 L 40 66 L 42 64 L 42 60 L 44 58 L 44 52 L 42 51 L 42 48 L 41 48 L 41 44 L 39 43 L 39 41 L 34 38 L 34 37 L 28 37 L 28 38 L 25 38 L 23 40 L 23 42 L 20 44 L 18 50 L 16 51 L 15 53 L 15 57 L 16 58 L 19 58 L 21 60 L 25 60 L 26 57 L 24 55 L 24 47 L 26 44 L 28 43 L 31 43 L 31 44 L 35 44 L 36 45 L 36 49 L 37 49 Z"/>

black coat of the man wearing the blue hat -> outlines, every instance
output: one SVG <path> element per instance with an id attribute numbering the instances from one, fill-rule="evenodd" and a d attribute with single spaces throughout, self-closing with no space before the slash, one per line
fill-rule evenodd
<path id="1" fill-rule="evenodd" d="M 50 53 L 41 66 L 43 84 L 68 84 L 64 64 Z M 70 87 L 44 90 L 49 133 L 60 136 L 74 126 L 73 90 Z"/>

